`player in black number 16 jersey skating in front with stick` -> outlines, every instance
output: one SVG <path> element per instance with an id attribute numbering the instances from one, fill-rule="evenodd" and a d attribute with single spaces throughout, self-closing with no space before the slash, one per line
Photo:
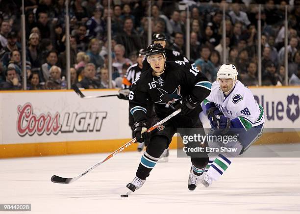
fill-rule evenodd
<path id="1" fill-rule="evenodd" d="M 146 51 L 150 69 L 134 80 L 129 93 L 129 108 L 134 117 L 137 142 L 145 142 L 146 152 L 138 166 L 136 177 L 126 187 L 135 191 L 143 186 L 163 151 L 169 147 L 178 128 L 193 128 L 202 111 L 200 103 L 209 95 L 211 83 L 196 68 L 184 61 L 166 61 L 166 51 L 160 44 L 151 44 Z M 151 134 L 147 130 L 147 100 L 154 103 L 158 120 L 181 108 L 180 114 L 164 124 L 165 128 Z M 187 130 L 187 129 L 186 129 Z M 144 134 L 143 134 L 144 133 Z M 194 190 L 208 162 L 191 157 L 192 167 L 188 188 Z"/>

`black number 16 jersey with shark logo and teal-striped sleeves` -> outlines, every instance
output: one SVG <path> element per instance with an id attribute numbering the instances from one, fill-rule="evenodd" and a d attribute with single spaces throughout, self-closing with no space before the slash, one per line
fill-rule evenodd
<path id="1" fill-rule="evenodd" d="M 147 100 L 154 103 L 157 116 L 164 118 L 175 111 L 175 103 L 182 98 L 190 95 L 200 104 L 209 95 L 211 83 L 197 68 L 184 61 L 167 61 L 165 66 L 160 76 L 153 76 L 151 70 L 147 70 L 132 83 L 129 108 L 135 122 L 147 120 Z M 199 105 L 189 115 L 179 114 L 175 118 L 195 117 L 198 120 L 201 111 Z"/>

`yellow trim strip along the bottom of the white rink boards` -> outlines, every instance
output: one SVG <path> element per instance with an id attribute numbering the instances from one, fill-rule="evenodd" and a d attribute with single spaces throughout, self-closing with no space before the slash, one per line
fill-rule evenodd
<path id="1" fill-rule="evenodd" d="M 49 143 L 19 143 L 1 144 L 1 158 L 53 156 L 53 155 L 75 155 L 87 153 L 110 153 L 118 149 L 130 139 L 114 140 L 86 140 L 72 142 L 49 142 Z M 300 132 L 289 133 L 264 133 L 256 142 L 260 144 L 300 143 Z M 177 148 L 177 139 L 173 137 L 170 149 Z M 133 144 L 125 151 L 136 151 L 137 144 Z"/>

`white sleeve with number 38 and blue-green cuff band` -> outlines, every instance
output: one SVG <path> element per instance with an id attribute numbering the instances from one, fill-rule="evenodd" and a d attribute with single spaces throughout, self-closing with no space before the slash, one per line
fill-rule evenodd
<path id="1" fill-rule="evenodd" d="M 250 130 L 261 112 L 250 89 L 245 87 L 243 93 L 235 94 L 230 102 L 233 103 L 235 111 L 233 113 L 236 115 L 236 118 L 231 120 L 231 126 L 246 131 Z"/>

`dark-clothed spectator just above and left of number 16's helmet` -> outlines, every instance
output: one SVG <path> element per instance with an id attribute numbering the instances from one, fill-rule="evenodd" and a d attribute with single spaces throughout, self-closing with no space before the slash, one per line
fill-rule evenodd
<path id="1" fill-rule="evenodd" d="M 131 52 L 141 49 L 140 40 L 140 37 L 133 29 L 132 19 L 130 17 L 125 18 L 123 31 L 118 33 L 116 38 L 117 43 L 125 47 L 125 57 L 128 57 Z"/>

